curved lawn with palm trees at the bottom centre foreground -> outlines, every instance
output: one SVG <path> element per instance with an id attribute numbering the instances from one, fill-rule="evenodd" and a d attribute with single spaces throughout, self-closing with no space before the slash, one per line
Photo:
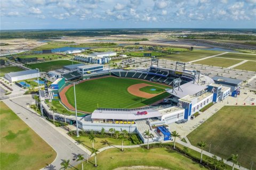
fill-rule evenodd
<path id="1" fill-rule="evenodd" d="M 89 159 L 89 164 L 83 163 L 84 169 L 95 169 L 94 157 Z M 98 167 L 96 169 L 115 169 L 118 167 L 129 166 L 149 166 L 162 167 L 166 169 L 206 169 L 193 160 L 180 155 L 179 153 L 166 148 L 143 149 L 143 148 L 125 148 L 124 151 L 120 149 L 108 149 L 102 151 L 97 156 Z M 75 169 L 75 168 L 74 168 Z M 77 169 L 82 169 L 81 164 Z M 142 168 L 141 168 L 142 169 Z M 147 169 L 146 167 L 143 169 Z"/>

